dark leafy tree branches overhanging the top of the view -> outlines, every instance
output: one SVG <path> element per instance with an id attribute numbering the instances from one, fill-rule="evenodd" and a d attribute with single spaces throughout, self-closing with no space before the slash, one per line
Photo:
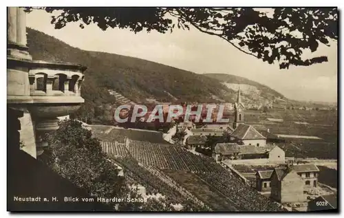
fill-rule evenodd
<path id="1" fill-rule="evenodd" d="M 337 8 L 41 8 L 58 12 L 52 24 L 61 29 L 70 22 L 80 28 L 96 23 L 102 30 L 125 28 L 133 32 L 190 26 L 219 36 L 241 52 L 281 69 L 327 61 L 326 56 L 302 58 L 305 50 L 315 52 L 319 44 L 338 39 Z M 27 8 L 28 11 L 32 8 Z"/>

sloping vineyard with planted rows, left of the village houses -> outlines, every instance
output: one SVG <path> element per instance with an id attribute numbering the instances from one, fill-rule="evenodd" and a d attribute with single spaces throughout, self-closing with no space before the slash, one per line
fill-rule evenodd
<path id="1" fill-rule="evenodd" d="M 183 201 L 184 194 L 191 193 L 194 206 L 202 201 L 217 211 L 279 211 L 279 204 L 257 193 L 212 158 L 195 155 L 180 146 L 131 141 L 122 143 L 102 142 L 103 151 L 124 168 L 129 182 L 142 184 L 149 193 L 169 197 L 173 204 Z M 113 148 L 117 146 L 118 148 Z M 112 148 L 111 148 L 112 147 Z M 149 170 L 149 168 L 155 168 Z M 162 179 L 162 177 L 170 177 Z M 163 181 L 164 180 L 164 181 Z M 174 184 L 175 191 L 171 188 Z M 179 192 L 175 193 L 175 192 Z M 186 202 L 182 202 L 182 205 Z"/>

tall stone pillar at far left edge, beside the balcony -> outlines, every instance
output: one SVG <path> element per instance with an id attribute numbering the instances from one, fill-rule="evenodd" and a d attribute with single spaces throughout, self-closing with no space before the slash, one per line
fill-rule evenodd
<path id="1" fill-rule="evenodd" d="M 24 21 L 24 22 L 23 22 Z M 28 79 L 31 56 L 26 47 L 25 12 L 22 8 L 8 7 L 8 47 L 7 47 L 7 131 L 8 153 L 15 154 L 20 149 L 22 129 L 18 118 L 23 117 L 25 105 L 32 103 Z M 20 30 L 20 32 L 19 32 Z M 18 40 L 21 42 L 18 43 Z M 16 158 L 11 156 L 11 158 Z"/>

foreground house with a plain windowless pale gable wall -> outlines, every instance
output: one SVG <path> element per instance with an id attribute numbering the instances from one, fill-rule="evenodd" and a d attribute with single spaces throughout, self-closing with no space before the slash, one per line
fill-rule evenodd
<path id="1" fill-rule="evenodd" d="M 280 203 L 296 203 L 305 201 L 303 194 L 303 179 L 292 168 L 275 168 L 271 175 L 271 195 L 272 199 Z"/>

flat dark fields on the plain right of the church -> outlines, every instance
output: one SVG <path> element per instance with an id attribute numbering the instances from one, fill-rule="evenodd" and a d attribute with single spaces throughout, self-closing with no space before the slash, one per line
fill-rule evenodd
<path id="1" fill-rule="evenodd" d="M 281 118 L 283 122 L 269 122 L 267 118 Z M 286 156 L 337 159 L 337 111 L 245 111 L 245 120 L 258 130 L 270 129 L 271 133 L 317 136 L 321 140 L 289 138 L 278 144 Z M 298 124 L 302 122 L 307 124 Z"/>

